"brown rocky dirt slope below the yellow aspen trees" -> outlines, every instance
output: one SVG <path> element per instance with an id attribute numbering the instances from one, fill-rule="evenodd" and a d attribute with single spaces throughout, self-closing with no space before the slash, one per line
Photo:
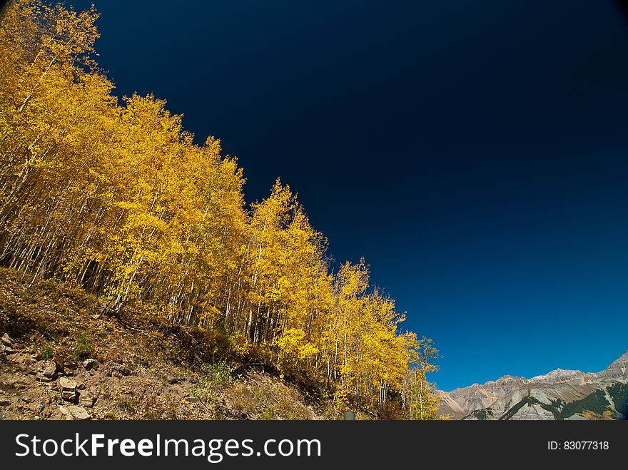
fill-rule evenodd
<path id="1" fill-rule="evenodd" d="M 335 419 L 324 397 L 221 339 L 0 269 L 0 419 Z"/>

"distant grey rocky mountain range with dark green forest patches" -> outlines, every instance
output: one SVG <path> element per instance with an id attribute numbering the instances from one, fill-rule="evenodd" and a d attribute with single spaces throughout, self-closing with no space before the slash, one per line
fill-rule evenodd
<path id="1" fill-rule="evenodd" d="M 440 414 L 455 419 L 586 419 L 587 412 L 628 419 L 628 352 L 601 372 L 552 370 L 505 375 L 440 394 Z"/>

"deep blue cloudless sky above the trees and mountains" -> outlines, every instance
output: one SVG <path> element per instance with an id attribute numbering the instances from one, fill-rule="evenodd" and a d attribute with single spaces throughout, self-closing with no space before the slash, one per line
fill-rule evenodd
<path id="1" fill-rule="evenodd" d="M 68 2 L 83 8 L 88 1 Z M 96 0 L 117 93 L 277 176 L 440 349 L 438 387 L 628 349 L 628 23 L 610 0 Z"/>

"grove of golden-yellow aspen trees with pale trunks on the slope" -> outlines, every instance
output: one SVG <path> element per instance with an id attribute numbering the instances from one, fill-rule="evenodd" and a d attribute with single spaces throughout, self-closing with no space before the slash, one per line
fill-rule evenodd
<path id="1" fill-rule="evenodd" d="M 338 406 L 433 419 L 429 339 L 403 332 L 368 266 L 327 242 L 279 180 L 246 204 L 242 169 L 193 143 L 154 96 L 118 98 L 95 61 L 92 7 L 15 0 L 0 22 L 0 263 L 76 282 L 112 311 L 222 332 Z"/>

